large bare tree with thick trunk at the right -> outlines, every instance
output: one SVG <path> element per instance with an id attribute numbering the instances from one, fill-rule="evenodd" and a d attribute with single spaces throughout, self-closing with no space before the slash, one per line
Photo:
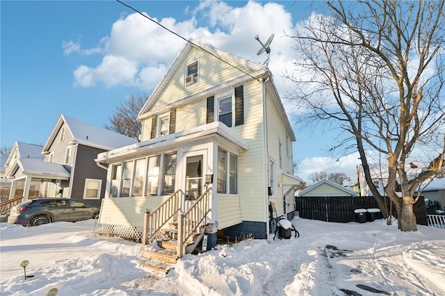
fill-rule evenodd
<path id="1" fill-rule="evenodd" d="M 387 208 L 369 172 L 369 154 L 387 159 L 385 194 L 401 231 L 416 231 L 414 191 L 444 167 L 444 0 L 326 1 L 329 17 L 312 15 L 295 35 L 300 62 L 290 102 L 306 124 L 339 129 L 337 147 L 359 151 L 366 183 Z M 442 101 L 441 101 L 442 100 Z M 435 149 L 428 150 L 428 144 Z M 426 167 L 405 168 L 414 151 Z M 401 197 L 396 184 L 400 183 Z"/>

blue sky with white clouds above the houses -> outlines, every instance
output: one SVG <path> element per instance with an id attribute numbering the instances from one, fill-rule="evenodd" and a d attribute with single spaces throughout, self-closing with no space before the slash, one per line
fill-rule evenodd
<path id="1" fill-rule="evenodd" d="M 269 67 L 281 79 L 294 56 L 291 34 L 320 1 L 124 1 L 183 35 L 243 58 L 257 56 L 271 34 Z M 0 145 L 43 145 L 60 114 L 104 126 L 129 95 L 150 94 L 185 42 L 118 1 L 1 1 Z M 293 122 L 291 118 L 291 122 Z M 294 122 L 293 122 L 294 123 Z M 335 135 L 294 124 L 299 174 L 354 176 L 357 159 L 326 154 Z M 352 161 L 352 162 L 351 162 Z"/>

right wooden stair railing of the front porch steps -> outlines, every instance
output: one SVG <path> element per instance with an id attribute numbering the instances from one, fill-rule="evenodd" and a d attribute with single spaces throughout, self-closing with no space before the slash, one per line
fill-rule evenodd
<path id="1" fill-rule="evenodd" d="M 211 188 L 207 190 L 195 201 L 193 206 L 185 213 L 178 213 L 178 245 L 177 257 L 181 258 L 184 252 L 184 242 L 190 238 L 202 222 L 205 222 L 210 210 Z"/>

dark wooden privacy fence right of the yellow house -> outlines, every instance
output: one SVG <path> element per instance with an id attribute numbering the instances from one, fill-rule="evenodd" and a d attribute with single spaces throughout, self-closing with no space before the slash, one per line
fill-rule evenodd
<path id="1" fill-rule="evenodd" d="M 356 221 L 357 208 L 378 208 L 374 197 L 296 197 L 300 217 L 326 222 Z"/>

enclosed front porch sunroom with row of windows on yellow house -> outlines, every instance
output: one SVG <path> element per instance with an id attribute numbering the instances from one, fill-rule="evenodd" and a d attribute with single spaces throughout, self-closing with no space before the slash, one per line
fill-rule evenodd
<path id="1" fill-rule="evenodd" d="M 139 231 L 147 209 L 179 190 L 184 210 L 209 186 L 209 220 L 221 228 L 241 223 L 238 158 L 247 149 L 233 129 L 212 122 L 99 154 L 97 164 L 108 165 L 99 223 Z"/>

